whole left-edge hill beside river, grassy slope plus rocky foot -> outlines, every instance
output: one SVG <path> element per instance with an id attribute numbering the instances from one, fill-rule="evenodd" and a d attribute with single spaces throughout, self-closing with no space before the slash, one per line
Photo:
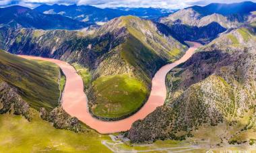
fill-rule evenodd
<path id="1" fill-rule="evenodd" d="M 59 105 L 59 67 L 25 60 L 3 50 L 0 55 L 1 113 L 9 111 L 13 104 L 14 111 L 22 113 L 30 107 L 52 110 Z"/>

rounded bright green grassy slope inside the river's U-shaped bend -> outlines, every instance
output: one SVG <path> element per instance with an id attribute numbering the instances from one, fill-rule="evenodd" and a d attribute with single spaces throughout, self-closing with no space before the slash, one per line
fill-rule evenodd
<path id="1" fill-rule="evenodd" d="M 133 113 L 143 105 L 147 87 L 127 74 L 100 77 L 93 82 L 97 95 L 94 115 L 118 118 Z"/>

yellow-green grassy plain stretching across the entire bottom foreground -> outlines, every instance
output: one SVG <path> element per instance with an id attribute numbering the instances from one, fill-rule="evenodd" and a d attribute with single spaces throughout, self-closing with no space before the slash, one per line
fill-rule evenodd
<path id="1" fill-rule="evenodd" d="M 204 146 L 199 139 L 191 140 L 192 144 L 188 140 L 182 142 L 158 140 L 153 144 L 124 144 L 119 141 L 113 142 L 108 136 L 100 135 L 87 127 L 87 131 L 84 133 L 55 129 L 51 123 L 40 119 L 37 111 L 32 111 L 32 121 L 27 121 L 20 115 L 0 115 L 0 152 L 7 150 L 8 152 L 111 152 L 106 146 L 117 152 L 134 152 L 135 150 L 142 152 L 249 150 L 245 146 L 210 148 L 210 146 Z M 106 143 L 103 145 L 102 141 Z M 198 144 L 198 142 L 201 143 Z"/>

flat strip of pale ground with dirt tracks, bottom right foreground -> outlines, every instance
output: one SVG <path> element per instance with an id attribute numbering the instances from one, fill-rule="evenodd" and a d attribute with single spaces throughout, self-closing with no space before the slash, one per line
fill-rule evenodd
<path id="1" fill-rule="evenodd" d="M 209 131 L 208 131 L 209 133 Z M 251 151 L 255 152 L 255 148 L 249 148 L 248 146 L 209 146 L 207 140 L 158 140 L 153 144 L 129 144 L 122 143 L 120 141 L 113 142 L 111 140 L 105 140 L 104 144 L 108 146 L 113 152 L 190 152 L 190 153 L 205 153 L 212 150 L 213 152 L 239 152 Z M 233 150 L 233 151 L 232 151 Z"/>

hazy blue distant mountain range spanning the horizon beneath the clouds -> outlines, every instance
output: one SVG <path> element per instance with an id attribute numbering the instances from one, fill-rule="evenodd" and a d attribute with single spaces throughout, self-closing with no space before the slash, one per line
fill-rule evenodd
<path id="1" fill-rule="evenodd" d="M 40 5 L 34 9 L 11 6 L 0 9 L 0 24 L 11 28 L 79 30 L 93 24 L 102 25 L 115 17 L 134 15 L 168 26 L 170 31 L 176 32 L 172 34 L 179 40 L 209 42 L 220 32 L 224 32 L 224 29 L 256 21 L 255 11 L 256 4 L 249 1 L 232 4 L 212 3 L 205 7 L 193 6 L 179 11 L 153 7 L 101 9 L 91 5 Z M 214 22 L 218 25 L 210 26 Z M 187 25 L 189 27 L 186 27 Z M 205 36 L 209 27 L 213 28 L 211 36 Z M 184 30 L 189 32 L 189 37 L 184 35 Z"/>

